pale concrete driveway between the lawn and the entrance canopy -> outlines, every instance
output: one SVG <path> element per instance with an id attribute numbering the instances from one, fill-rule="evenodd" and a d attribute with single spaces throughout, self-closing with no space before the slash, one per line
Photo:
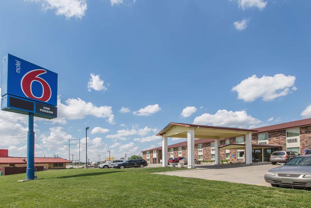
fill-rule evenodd
<path id="1" fill-rule="evenodd" d="M 159 172 L 155 174 L 271 186 L 270 183 L 265 181 L 263 176 L 274 167 L 277 166 L 271 164 L 249 166 L 240 163 L 223 165 L 201 164 L 196 165 L 196 169 L 192 170 L 183 169 L 180 171 Z"/>

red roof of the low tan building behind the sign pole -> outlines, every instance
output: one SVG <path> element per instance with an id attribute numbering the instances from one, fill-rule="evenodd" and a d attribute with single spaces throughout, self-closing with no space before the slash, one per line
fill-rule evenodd
<path id="1" fill-rule="evenodd" d="M 25 158 L 25 161 L 23 161 Z M 26 164 L 27 157 L 0 157 L 0 164 Z M 35 157 L 35 163 L 71 163 L 63 158 L 54 157 Z"/>

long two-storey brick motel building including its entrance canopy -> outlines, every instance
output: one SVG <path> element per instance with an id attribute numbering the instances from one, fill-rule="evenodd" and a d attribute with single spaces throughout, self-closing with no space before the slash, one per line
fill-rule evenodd
<path id="1" fill-rule="evenodd" d="M 269 162 L 277 150 L 304 154 L 311 149 L 311 118 L 254 129 L 169 123 L 157 136 L 162 136 L 162 147 L 142 151 L 149 164 L 163 160 L 166 167 L 168 157 L 187 157 L 188 168 L 194 167 L 194 159 L 215 164 L 224 159 L 246 164 Z M 167 145 L 168 137 L 187 141 Z"/>

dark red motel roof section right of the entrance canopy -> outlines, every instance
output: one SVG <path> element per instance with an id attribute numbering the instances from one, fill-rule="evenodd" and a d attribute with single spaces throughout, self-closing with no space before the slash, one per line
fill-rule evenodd
<path id="1" fill-rule="evenodd" d="M 291 121 L 291 122 L 286 122 L 286 123 L 280 123 L 280 124 L 275 124 L 271 126 L 264 126 L 260 128 L 253 128 L 253 130 L 258 130 L 258 132 L 254 132 L 254 133 L 262 133 L 262 132 L 270 132 L 270 131 L 276 131 L 276 130 L 281 130 L 281 129 L 286 129 L 286 128 L 295 128 L 295 127 L 309 126 L 309 125 L 311 125 L 311 118 L 302 119 L 298 121 Z"/>

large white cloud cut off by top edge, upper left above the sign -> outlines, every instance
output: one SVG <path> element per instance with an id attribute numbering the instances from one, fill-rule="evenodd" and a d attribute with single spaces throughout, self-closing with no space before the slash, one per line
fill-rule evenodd
<path id="1" fill-rule="evenodd" d="M 57 15 L 81 19 L 87 8 L 86 0 L 31 0 L 42 4 L 44 10 L 55 9 Z"/>

